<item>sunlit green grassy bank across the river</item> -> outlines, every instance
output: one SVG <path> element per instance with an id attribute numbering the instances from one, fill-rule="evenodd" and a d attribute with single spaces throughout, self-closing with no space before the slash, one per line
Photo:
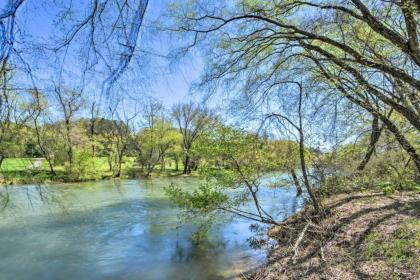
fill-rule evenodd
<path id="1" fill-rule="evenodd" d="M 7 158 L 0 169 L 0 184 L 37 184 L 49 182 L 85 182 L 115 178 L 110 170 L 106 158 L 95 158 L 86 164 L 84 169 L 74 169 L 69 172 L 65 166 L 55 166 L 51 173 L 45 160 L 41 161 L 39 168 L 33 168 L 33 159 Z M 182 165 L 175 170 L 175 164 L 168 162 L 164 170 L 156 166 L 149 177 L 169 177 L 182 175 Z M 121 169 L 121 179 L 144 177 L 144 171 L 137 166 L 134 158 L 126 158 Z"/>

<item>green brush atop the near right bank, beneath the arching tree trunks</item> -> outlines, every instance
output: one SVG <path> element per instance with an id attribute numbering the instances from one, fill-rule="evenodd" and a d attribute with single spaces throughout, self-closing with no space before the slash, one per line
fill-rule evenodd
<path id="1" fill-rule="evenodd" d="M 344 145 L 332 153 L 322 154 L 319 160 L 328 168 L 323 192 L 331 194 L 371 189 L 393 194 L 395 191 L 419 191 L 416 168 L 396 140 L 388 136 L 386 133 L 382 135 L 362 171 L 358 171 L 357 167 L 366 155 L 368 135 L 357 145 Z M 407 137 L 412 138 L 413 135 L 408 133 Z"/>

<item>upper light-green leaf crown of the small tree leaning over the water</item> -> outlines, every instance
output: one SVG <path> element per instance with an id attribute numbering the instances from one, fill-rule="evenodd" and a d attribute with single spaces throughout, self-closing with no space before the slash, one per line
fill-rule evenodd
<path id="1" fill-rule="evenodd" d="M 206 159 L 199 173 L 224 188 L 236 188 L 245 181 L 257 181 L 279 168 L 272 147 L 256 135 L 216 125 L 206 132 L 195 151 Z"/>

